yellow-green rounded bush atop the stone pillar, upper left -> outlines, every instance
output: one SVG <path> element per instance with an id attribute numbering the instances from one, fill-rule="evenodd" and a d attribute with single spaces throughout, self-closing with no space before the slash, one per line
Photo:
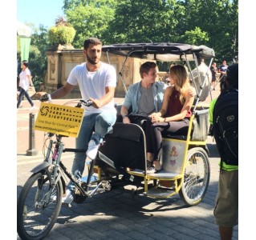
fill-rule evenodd
<path id="1" fill-rule="evenodd" d="M 49 42 L 53 45 L 69 45 L 75 38 L 75 29 L 72 26 L 52 26 L 49 29 Z"/>

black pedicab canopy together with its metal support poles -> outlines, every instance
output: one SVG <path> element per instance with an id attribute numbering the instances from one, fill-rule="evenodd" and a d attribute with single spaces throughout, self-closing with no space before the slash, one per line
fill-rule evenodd
<path id="1" fill-rule="evenodd" d="M 102 47 L 102 51 L 108 54 L 115 54 L 119 56 L 126 57 L 120 70 L 119 78 L 122 81 L 124 86 L 125 94 L 127 93 L 127 88 L 125 86 L 125 82 L 123 79 L 122 71 L 124 70 L 125 62 L 128 58 L 141 58 L 148 61 L 159 61 L 159 62 L 177 62 L 182 61 L 186 62 L 186 66 L 189 69 L 189 75 L 191 81 L 193 81 L 194 85 L 195 79 L 191 74 L 191 66 L 189 62 L 194 62 L 197 68 L 197 75 L 199 81 L 201 82 L 200 87 L 197 89 L 197 103 L 199 102 L 199 97 L 201 96 L 203 87 L 205 86 L 206 82 L 206 74 L 205 79 L 201 79 L 201 76 L 198 71 L 198 58 L 209 59 L 209 67 L 212 65 L 213 58 L 215 57 L 215 52 L 213 49 L 209 48 L 208 46 L 194 46 L 185 43 L 171 43 L 171 42 L 151 42 L 151 43 L 117 43 L 112 45 L 106 45 Z M 108 58 L 109 61 L 109 58 Z M 110 62 L 110 61 L 109 61 Z M 118 79 L 119 79 L 118 78 Z M 117 80 L 118 81 L 118 80 Z M 211 93 L 209 92 L 210 96 Z M 211 96 L 212 98 L 212 96 Z"/>

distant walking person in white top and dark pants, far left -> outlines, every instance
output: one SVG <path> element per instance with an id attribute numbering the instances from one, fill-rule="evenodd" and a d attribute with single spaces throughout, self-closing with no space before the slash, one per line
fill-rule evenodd
<path id="1" fill-rule="evenodd" d="M 28 94 L 27 90 L 29 86 L 33 86 L 33 82 L 31 80 L 31 74 L 30 70 L 28 68 L 28 62 L 26 60 L 22 61 L 22 71 L 19 74 L 19 94 L 18 94 L 18 102 L 17 102 L 17 109 L 20 106 L 23 96 L 25 95 L 27 101 L 30 103 L 31 108 L 30 110 L 35 110 L 35 104 L 30 98 L 30 95 Z"/>

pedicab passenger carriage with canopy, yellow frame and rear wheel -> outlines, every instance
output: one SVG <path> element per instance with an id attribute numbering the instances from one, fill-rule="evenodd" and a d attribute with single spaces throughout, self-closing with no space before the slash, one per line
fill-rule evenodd
<path id="1" fill-rule="evenodd" d="M 122 71 L 124 70 L 125 62 L 128 58 L 141 58 L 147 59 L 148 61 L 160 61 L 160 62 L 185 62 L 188 67 L 189 73 L 191 73 L 191 66 L 189 62 L 193 61 L 197 68 L 197 75 L 199 81 L 201 82 L 200 88 L 197 89 L 197 101 L 193 106 L 193 115 L 189 121 L 189 130 L 187 134 L 179 134 L 172 136 L 163 136 L 163 150 L 161 154 L 161 161 L 164 169 L 160 173 L 156 174 L 147 174 L 147 162 L 146 162 L 146 148 L 145 148 L 145 138 L 144 142 L 144 169 L 130 169 L 127 168 L 127 172 L 132 177 L 142 177 L 144 178 L 144 192 L 152 198 L 169 198 L 174 194 L 179 193 L 182 200 L 185 204 L 189 206 L 197 205 L 201 202 L 204 197 L 206 190 L 209 185 L 209 151 L 206 146 L 206 138 L 209 131 L 209 120 L 208 114 L 209 110 L 205 106 L 199 106 L 199 97 L 205 86 L 205 81 L 209 81 L 208 78 L 201 79 L 201 74 L 198 71 L 198 61 L 197 58 L 209 59 L 209 66 L 213 62 L 215 57 L 214 50 L 207 46 L 193 46 L 188 44 L 181 43 L 121 43 L 121 44 L 112 44 L 109 46 L 103 46 L 103 52 L 108 54 L 114 54 L 119 56 L 126 57 L 121 68 L 118 81 L 121 80 L 124 86 L 125 92 L 126 86 L 123 79 Z M 111 63 L 111 62 L 109 62 Z M 208 66 L 208 70 L 209 70 Z M 193 74 L 190 74 L 190 80 L 194 82 Z M 209 84 L 210 86 L 210 84 Z M 209 92 L 210 93 L 210 92 Z M 117 106 L 117 110 L 120 114 L 120 107 Z M 120 117 L 120 116 L 119 116 Z M 124 124 L 120 119 L 116 122 L 116 127 L 118 131 L 122 131 Z M 136 127 L 131 126 L 134 129 L 131 129 L 131 132 L 135 131 Z M 128 131 L 129 132 L 129 131 Z M 144 131 L 141 129 L 141 133 L 144 135 Z M 116 138 L 130 138 L 127 134 L 126 136 L 120 136 L 122 134 L 116 134 Z M 109 135 L 111 138 L 111 134 Z M 108 138 L 108 136 L 107 136 Z M 108 142 L 109 139 L 106 139 Z M 119 140 L 117 140 L 119 141 Z M 117 143 L 117 142 L 116 142 Z M 112 143 L 115 144 L 115 143 Z M 112 145 L 113 146 L 113 145 Z M 166 156 L 166 152 L 170 152 L 172 147 L 178 146 L 181 150 L 184 150 L 184 153 L 181 154 L 181 159 L 163 160 Z M 110 146 L 111 148 L 111 146 Z M 106 150 L 106 148 L 105 148 Z M 163 152 L 165 151 L 165 153 Z M 107 150 L 109 154 L 109 150 Z M 114 154 L 115 155 L 115 154 Z M 99 157 L 101 160 L 111 164 L 113 168 L 115 166 L 115 159 L 124 158 L 121 154 L 119 156 L 112 155 L 113 161 L 104 155 L 104 149 L 100 148 Z M 199 160 L 198 160 L 199 159 Z M 108 161 L 110 160 L 110 161 Z M 119 160 L 117 160 L 119 161 Z M 177 163 L 177 162 L 179 163 Z M 111 163 L 110 163 L 111 162 Z M 171 162 L 171 164 L 170 164 Z M 170 165 L 177 163 L 178 166 L 174 167 Z M 199 163 L 200 162 L 200 166 Z M 118 167 L 120 170 L 120 167 Z M 194 168 L 194 169 L 193 169 Z M 173 171 L 172 171 L 173 170 Z M 190 171 L 190 172 L 189 172 Z M 123 171 L 124 172 L 124 171 Z M 100 178 L 100 175 L 99 175 Z M 148 182 L 153 181 L 153 187 L 148 189 Z M 193 182 L 193 183 L 191 183 Z M 197 190 L 195 190 L 197 188 Z"/>

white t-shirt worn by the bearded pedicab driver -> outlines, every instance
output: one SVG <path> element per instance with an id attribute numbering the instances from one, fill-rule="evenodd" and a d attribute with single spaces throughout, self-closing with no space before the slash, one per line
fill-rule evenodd
<path id="1" fill-rule="evenodd" d="M 116 87 L 116 70 L 114 66 L 100 62 L 100 68 L 95 72 L 89 72 L 86 62 L 75 66 L 67 78 L 67 82 L 73 86 L 79 85 L 79 89 L 83 100 L 89 98 L 100 99 L 106 94 L 105 87 Z M 104 110 L 113 110 L 116 113 L 114 99 L 99 109 L 93 106 L 83 106 L 85 108 L 84 115 L 101 113 Z"/>

